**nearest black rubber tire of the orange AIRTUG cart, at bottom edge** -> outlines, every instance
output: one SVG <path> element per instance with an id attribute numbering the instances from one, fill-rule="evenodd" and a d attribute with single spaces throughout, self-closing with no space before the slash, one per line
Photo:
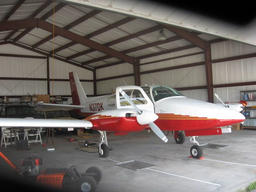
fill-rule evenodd
<path id="1" fill-rule="evenodd" d="M 92 176 L 84 176 L 76 183 L 78 192 L 94 192 L 97 188 L 97 183 Z"/>

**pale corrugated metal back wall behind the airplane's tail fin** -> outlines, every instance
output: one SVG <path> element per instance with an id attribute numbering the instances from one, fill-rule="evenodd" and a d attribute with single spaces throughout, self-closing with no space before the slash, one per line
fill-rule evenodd
<path id="1" fill-rule="evenodd" d="M 0 53 L 42 56 L 38 53 L 11 44 L 1 45 Z M 0 56 L 0 77 L 47 78 L 46 59 Z M 93 80 L 93 72 L 50 58 L 50 78 L 68 79 L 68 72 L 75 71 L 80 79 Z M 54 70 L 54 76 L 52 71 Z M 93 94 L 93 82 L 82 82 L 86 94 Z M 47 81 L 0 80 L 0 95 L 47 94 Z M 50 81 L 52 94 L 52 81 Z M 54 81 L 54 95 L 70 95 L 69 82 Z"/>

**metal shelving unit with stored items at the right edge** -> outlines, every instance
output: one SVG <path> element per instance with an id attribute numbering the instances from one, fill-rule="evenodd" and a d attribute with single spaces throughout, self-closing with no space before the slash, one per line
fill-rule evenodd
<path id="1" fill-rule="evenodd" d="M 248 90 L 248 91 L 240 91 L 240 99 L 244 100 L 244 96 L 245 94 L 248 93 L 253 93 L 254 95 L 256 94 L 256 90 Z M 248 100 L 244 100 L 247 103 L 251 102 L 251 101 L 256 101 L 256 99 L 248 99 Z M 244 110 L 242 110 L 242 112 L 245 111 L 250 111 L 250 117 L 245 117 L 245 121 L 244 124 L 242 124 L 241 129 L 243 128 L 253 128 L 256 129 L 256 108 L 244 108 Z"/>

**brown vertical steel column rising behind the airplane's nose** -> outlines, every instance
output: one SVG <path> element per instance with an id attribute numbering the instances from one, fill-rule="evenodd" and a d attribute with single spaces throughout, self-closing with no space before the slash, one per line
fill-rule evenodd
<path id="1" fill-rule="evenodd" d="M 212 54 L 211 54 L 211 45 L 207 43 L 205 44 L 204 60 L 205 60 L 205 69 L 206 69 L 208 102 L 213 103 Z"/>

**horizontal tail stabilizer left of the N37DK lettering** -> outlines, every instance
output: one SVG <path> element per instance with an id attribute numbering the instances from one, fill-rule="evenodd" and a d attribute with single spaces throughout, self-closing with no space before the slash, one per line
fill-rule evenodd
<path id="1" fill-rule="evenodd" d="M 45 111 L 45 110 L 73 110 L 73 109 L 82 109 L 84 106 L 81 105 L 63 105 L 63 104 L 50 104 L 44 102 L 38 102 L 34 105 L 36 111 Z"/>

